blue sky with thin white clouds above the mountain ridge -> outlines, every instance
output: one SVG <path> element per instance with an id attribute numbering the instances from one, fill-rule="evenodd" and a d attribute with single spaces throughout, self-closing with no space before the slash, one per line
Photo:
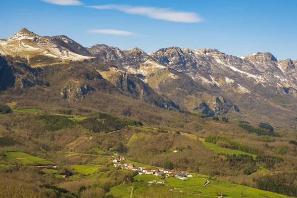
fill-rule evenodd
<path id="1" fill-rule="evenodd" d="M 84 47 L 167 47 L 297 59 L 297 0 L 0 0 L 0 38 L 22 28 Z"/>

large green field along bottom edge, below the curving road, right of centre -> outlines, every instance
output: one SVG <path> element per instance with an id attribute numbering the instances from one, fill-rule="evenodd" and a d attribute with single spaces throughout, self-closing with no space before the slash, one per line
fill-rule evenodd
<path id="1" fill-rule="evenodd" d="M 193 194 L 202 194 L 208 196 L 223 195 L 223 197 L 229 198 L 288 198 L 287 196 L 278 195 L 271 192 L 266 192 L 246 186 L 241 186 L 231 183 L 218 183 L 211 180 L 210 184 L 206 187 L 192 187 L 187 189 L 177 189 L 176 191 L 190 192 Z M 243 196 L 241 195 L 243 194 Z M 206 196 L 205 196 L 206 197 Z"/>

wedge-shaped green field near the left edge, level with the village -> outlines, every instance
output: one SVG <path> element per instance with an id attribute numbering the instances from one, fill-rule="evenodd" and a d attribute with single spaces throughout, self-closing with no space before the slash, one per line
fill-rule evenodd
<path id="1" fill-rule="evenodd" d="M 7 162 L 9 164 L 14 164 L 14 163 L 23 164 L 23 165 L 54 164 L 49 160 L 39 158 L 39 157 L 34 157 L 25 152 L 4 152 L 4 154 L 6 155 L 5 159 L 7 159 Z"/>

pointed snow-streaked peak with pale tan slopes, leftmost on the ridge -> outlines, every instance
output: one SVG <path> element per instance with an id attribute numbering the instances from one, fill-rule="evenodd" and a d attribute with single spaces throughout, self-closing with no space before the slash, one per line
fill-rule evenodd
<path id="1" fill-rule="evenodd" d="M 66 37 L 41 37 L 25 28 L 0 40 L 0 54 L 21 57 L 35 67 L 92 58 L 86 56 L 91 55 L 86 49 Z"/>

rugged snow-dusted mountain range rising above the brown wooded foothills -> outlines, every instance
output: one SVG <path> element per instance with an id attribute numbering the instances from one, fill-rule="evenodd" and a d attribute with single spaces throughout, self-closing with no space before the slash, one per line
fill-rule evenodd
<path id="1" fill-rule="evenodd" d="M 83 102 L 102 92 L 169 110 L 295 129 L 296 65 L 297 60 L 278 60 L 269 52 L 233 56 L 207 48 L 150 53 L 85 48 L 67 36 L 42 37 L 24 28 L 0 40 L 0 97 L 25 100 L 30 92 Z"/>

